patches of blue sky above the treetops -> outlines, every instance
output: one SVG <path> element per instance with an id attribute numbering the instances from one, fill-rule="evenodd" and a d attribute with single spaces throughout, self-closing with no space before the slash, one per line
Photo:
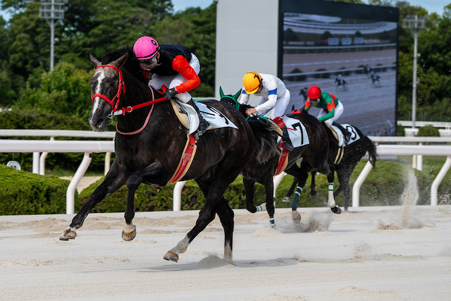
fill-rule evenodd
<path id="1" fill-rule="evenodd" d="M 219 1 L 227 1 L 227 0 L 219 0 Z M 364 0 L 366 3 L 368 0 Z M 438 13 L 438 15 L 442 15 L 443 7 L 451 4 L 451 0 L 407 0 L 412 6 L 421 6 L 426 8 L 428 13 Z M 172 0 L 174 11 L 184 11 L 188 7 L 200 7 L 206 8 L 213 3 L 213 0 Z M 4 11 L 0 11 L 0 15 L 3 16 L 6 20 L 8 20 L 8 14 Z"/>

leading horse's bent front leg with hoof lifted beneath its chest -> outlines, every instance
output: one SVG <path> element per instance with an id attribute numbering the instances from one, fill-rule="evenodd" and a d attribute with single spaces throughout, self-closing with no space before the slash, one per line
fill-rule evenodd
<path id="1" fill-rule="evenodd" d="M 135 192 L 144 180 L 147 183 L 156 183 L 156 179 L 161 175 L 163 165 L 160 162 L 154 162 L 146 168 L 132 173 L 127 180 L 127 209 L 125 209 L 125 226 L 122 230 L 123 240 L 130 241 L 136 236 L 136 226 L 133 224 L 135 217 Z"/>

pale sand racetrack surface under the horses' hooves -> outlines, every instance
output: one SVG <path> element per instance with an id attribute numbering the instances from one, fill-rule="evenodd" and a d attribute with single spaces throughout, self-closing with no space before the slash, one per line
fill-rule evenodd
<path id="1" fill-rule="evenodd" d="M 138 212 L 131 242 L 122 213 L 89 215 L 66 242 L 72 216 L 0 216 L 0 299 L 449 300 L 450 206 L 299 211 L 293 224 L 276 209 L 272 229 L 266 212 L 235 210 L 233 264 L 218 219 L 163 260 L 198 211 Z"/>

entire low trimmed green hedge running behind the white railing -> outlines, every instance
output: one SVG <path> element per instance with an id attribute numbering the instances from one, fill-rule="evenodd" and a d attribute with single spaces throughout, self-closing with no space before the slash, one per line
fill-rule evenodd
<path id="1" fill-rule="evenodd" d="M 352 173 L 350 184 L 353 185 L 357 176 L 364 168 L 366 161 L 361 161 Z M 440 164 L 437 164 L 439 166 Z M 407 187 L 407 180 L 412 168 L 408 164 L 396 161 L 378 161 L 376 169 L 373 169 L 364 181 L 360 189 L 361 206 L 385 206 L 402 204 L 402 192 Z M 419 200 L 417 204 L 429 204 L 431 198 L 431 183 L 437 168 L 433 171 L 414 171 L 419 188 Z M 66 190 L 68 180 L 61 180 L 51 176 L 39 176 L 26 171 L 16 171 L 0 165 L 2 188 L 0 190 L 0 215 L 9 214 L 62 214 L 66 212 Z M 87 201 L 103 179 L 93 183 L 83 190 L 80 195 L 75 195 L 75 212 L 80 210 L 82 204 Z M 310 176 L 299 201 L 299 207 L 324 207 L 326 206 L 327 178 L 316 176 L 316 191 L 318 197 L 310 199 Z M 439 203 L 450 204 L 451 175 L 445 176 L 438 190 Z M 290 188 L 292 176 L 285 176 L 276 192 L 276 207 L 288 208 L 290 203 L 282 202 L 285 193 Z M 167 211 L 173 209 L 174 184 L 165 187 L 140 185 L 135 193 L 135 211 Z M 335 189 L 338 183 L 335 182 Z M 233 209 L 245 208 L 245 192 L 242 178 L 239 176 L 226 190 L 224 197 Z M 202 192 L 189 180 L 182 190 L 182 210 L 201 209 L 205 199 Z M 256 196 L 254 204 L 265 202 L 264 187 L 256 184 Z M 342 193 L 335 198 L 339 206 L 343 206 L 345 199 Z M 92 212 L 123 212 L 127 204 L 127 188 L 123 186 L 117 192 L 109 195 L 96 205 Z"/>

